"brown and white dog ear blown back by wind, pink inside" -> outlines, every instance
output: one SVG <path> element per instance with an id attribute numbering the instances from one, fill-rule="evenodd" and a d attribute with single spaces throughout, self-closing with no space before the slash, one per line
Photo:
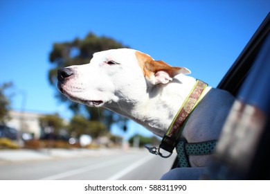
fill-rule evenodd
<path id="1" fill-rule="evenodd" d="M 150 62 L 146 62 L 145 68 L 147 71 L 150 71 L 154 74 L 150 78 L 150 82 L 152 82 L 153 85 L 167 84 L 172 80 L 174 76 L 180 73 L 191 73 L 191 71 L 185 67 L 172 67 L 161 60 L 151 60 Z"/>

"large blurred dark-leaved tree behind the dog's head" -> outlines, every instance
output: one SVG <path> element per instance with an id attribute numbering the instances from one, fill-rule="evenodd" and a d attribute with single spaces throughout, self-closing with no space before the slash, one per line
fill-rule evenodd
<path id="1" fill-rule="evenodd" d="M 120 42 L 109 37 L 98 37 L 93 33 L 89 33 L 84 39 L 75 38 L 71 42 L 62 42 L 53 44 L 53 50 L 50 53 L 50 62 L 53 64 L 48 72 L 48 80 L 57 89 L 57 70 L 61 67 L 67 67 L 73 64 L 87 64 L 91 60 L 93 53 L 111 48 L 123 48 Z M 75 114 L 87 112 L 87 118 L 90 121 L 102 121 L 109 129 L 113 123 L 118 123 L 121 127 L 125 125 L 127 118 L 119 116 L 104 108 L 93 108 L 73 103 L 67 100 L 59 91 L 56 97 L 61 102 L 69 105 Z"/>

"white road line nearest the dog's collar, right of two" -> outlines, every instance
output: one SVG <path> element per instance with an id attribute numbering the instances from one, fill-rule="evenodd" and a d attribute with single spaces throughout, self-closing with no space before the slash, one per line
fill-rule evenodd
<path id="1" fill-rule="evenodd" d="M 116 173 L 115 175 L 112 175 L 111 177 L 107 178 L 107 180 L 117 180 L 120 179 L 120 177 L 123 177 L 124 175 L 127 175 L 127 173 L 130 173 L 135 168 L 138 168 L 138 166 L 141 166 L 145 164 L 147 161 L 150 161 L 150 159 L 153 159 L 152 155 L 148 155 L 147 157 L 143 157 L 143 159 L 140 159 L 133 164 L 127 166 L 127 168 L 124 168 L 120 172 Z"/>

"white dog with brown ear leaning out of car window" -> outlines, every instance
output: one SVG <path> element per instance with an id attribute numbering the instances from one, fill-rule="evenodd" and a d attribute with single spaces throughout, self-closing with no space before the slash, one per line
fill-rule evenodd
<path id="1" fill-rule="evenodd" d="M 58 71 L 58 88 L 71 100 L 91 107 L 106 107 L 131 118 L 163 137 L 177 116 L 196 79 L 190 70 L 171 67 L 129 48 L 95 53 L 89 64 Z M 217 140 L 233 96 L 206 87 L 190 113 L 179 141 Z M 206 166 L 210 155 L 190 155 L 192 167 Z"/>

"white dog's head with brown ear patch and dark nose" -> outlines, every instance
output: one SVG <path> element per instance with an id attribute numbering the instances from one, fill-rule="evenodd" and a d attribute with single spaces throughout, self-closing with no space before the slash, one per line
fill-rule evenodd
<path id="1" fill-rule="evenodd" d="M 136 105 L 152 87 L 168 84 L 183 67 L 171 67 L 129 48 L 93 54 L 89 64 L 58 71 L 58 89 L 71 100 L 91 107 Z"/>

